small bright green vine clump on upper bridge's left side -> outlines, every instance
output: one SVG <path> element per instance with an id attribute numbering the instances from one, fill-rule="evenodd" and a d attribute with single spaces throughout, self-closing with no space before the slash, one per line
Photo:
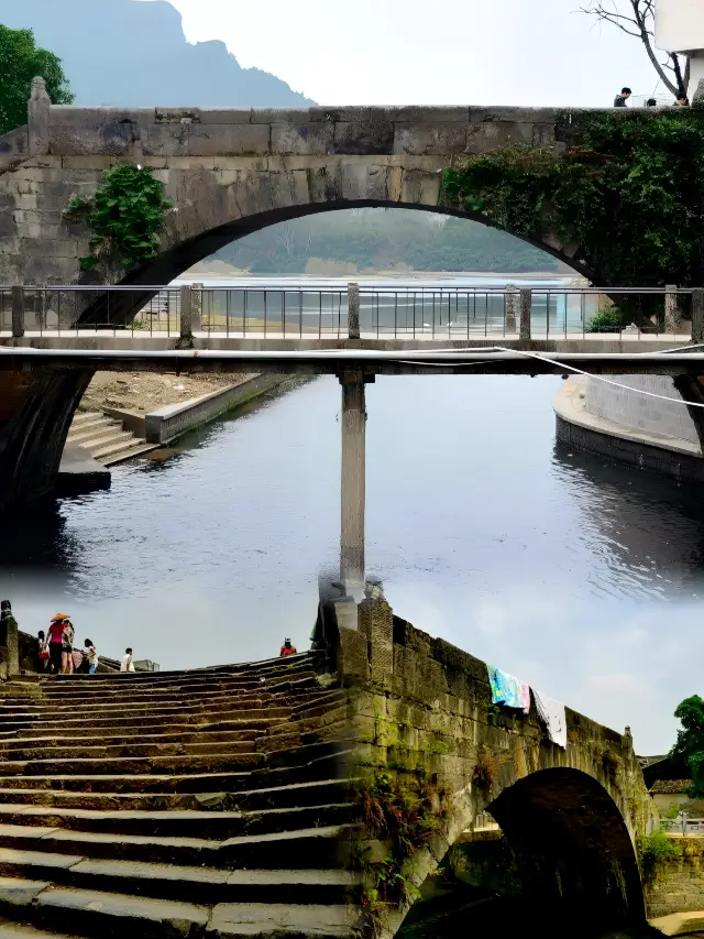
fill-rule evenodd
<path id="1" fill-rule="evenodd" d="M 173 207 L 151 170 L 128 164 L 109 170 L 95 196 L 76 196 L 64 212 L 67 221 L 86 221 L 92 232 L 81 270 L 94 271 L 103 260 L 127 269 L 152 261 L 160 252 L 164 212 Z"/>

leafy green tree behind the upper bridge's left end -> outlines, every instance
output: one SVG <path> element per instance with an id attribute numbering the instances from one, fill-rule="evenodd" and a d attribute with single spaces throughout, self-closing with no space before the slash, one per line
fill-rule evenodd
<path id="1" fill-rule="evenodd" d="M 32 79 L 41 76 L 54 105 L 70 105 L 74 96 L 54 53 L 38 48 L 32 30 L 0 25 L 0 134 L 26 123 Z"/>

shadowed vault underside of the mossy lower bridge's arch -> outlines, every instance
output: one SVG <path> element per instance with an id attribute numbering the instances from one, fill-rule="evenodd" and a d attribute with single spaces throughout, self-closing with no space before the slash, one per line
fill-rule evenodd
<path id="1" fill-rule="evenodd" d="M 515 883 L 505 895 L 507 916 L 515 919 L 518 907 L 518 919 L 528 933 L 535 926 L 546 937 L 593 936 L 645 922 L 640 873 L 628 828 L 595 778 L 566 768 L 538 771 L 504 789 L 487 811 L 507 842 L 512 870 L 519 872 L 520 896 Z M 481 850 L 481 844 L 472 848 Z M 495 884 L 491 892 L 496 893 Z M 449 894 L 449 909 L 451 903 Z M 428 913 L 432 910 L 437 918 L 441 906 L 436 898 Z M 502 908 L 497 907 L 499 927 Z M 471 916 L 469 907 L 461 921 Z M 407 921 L 409 936 L 422 917 L 420 909 L 414 909 Z"/>

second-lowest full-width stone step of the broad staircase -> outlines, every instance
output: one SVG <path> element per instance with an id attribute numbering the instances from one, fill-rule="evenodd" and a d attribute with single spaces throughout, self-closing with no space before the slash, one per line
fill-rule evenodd
<path id="1" fill-rule="evenodd" d="M 358 884 L 356 876 L 344 870 L 230 871 L 13 851 L 8 848 L 0 848 L 0 876 L 206 905 L 343 904 Z"/>

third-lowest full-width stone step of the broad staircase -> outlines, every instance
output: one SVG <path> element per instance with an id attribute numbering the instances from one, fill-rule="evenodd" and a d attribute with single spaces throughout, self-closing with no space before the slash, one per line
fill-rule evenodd
<path id="1" fill-rule="evenodd" d="M 339 869 L 349 861 L 353 831 L 354 826 L 340 825 L 213 841 L 204 838 L 69 831 L 48 826 L 0 825 L 0 848 L 233 870 Z"/>

